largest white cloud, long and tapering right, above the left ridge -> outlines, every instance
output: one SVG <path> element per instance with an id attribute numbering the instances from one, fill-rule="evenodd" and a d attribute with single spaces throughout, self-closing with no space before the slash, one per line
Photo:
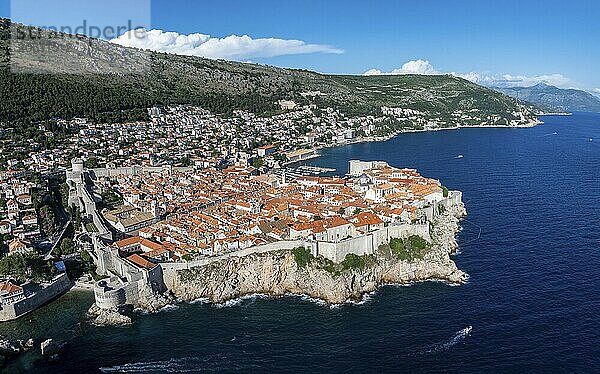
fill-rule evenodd
<path id="1" fill-rule="evenodd" d="M 253 39 L 248 35 L 214 38 L 206 34 L 184 35 L 176 32 L 144 29 L 131 30 L 111 42 L 125 47 L 158 52 L 238 61 L 307 53 L 339 54 L 344 52 L 332 46 L 309 44 L 302 40 Z"/>

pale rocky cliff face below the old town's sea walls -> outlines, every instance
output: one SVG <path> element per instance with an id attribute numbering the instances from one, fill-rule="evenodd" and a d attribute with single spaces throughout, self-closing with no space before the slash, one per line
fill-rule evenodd
<path id="1" fill-rule="evenodd" d="M 432 232 L 433 246 L 422 260 L 399 261 L 378 255 L 377 263 L 364 270 L 347 270 L 339 275 L 311 264 L 299 268 L 289 251 L 231 258 L 209 266 L 178 271 L 171 291 L 183 301 L 207 298 L 213 303 L 250 294 L 284 296 L 305 294 L 330 304 L 360 300 L 365 293 L 385 284 L 444 280 L 464 283 L 468 276 L 450 258 L 458 245 L 459 206 L 438 217 Z"/>

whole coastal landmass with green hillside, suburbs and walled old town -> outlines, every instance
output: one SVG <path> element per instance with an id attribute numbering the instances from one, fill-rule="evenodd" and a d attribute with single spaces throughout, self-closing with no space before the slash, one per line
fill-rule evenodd
<path id="1" fill-rule="evenodd" d="M 52 48 L 89 74 L 15 74 L 13 26 L 0 20 L 0 86 L 19 87 L 0 90 L 0 245 L 5 264 L 29 263 L 0 266 L 16 290 L 7 304 L 32 296 L 19 288 L 32 269 L 43 284 L 66 270 L 60 279 L 93 287 L 97 314 L 256 292 L 340 303 L 380 284 L 461 282 L 449 257 L 460 192 L 381 162 L 355 161 L 342 177 L 296 163 L 404 132 L 539 123 L 537 108 L 451 75 L 324 75 L 66 34 Z M 20 196 L 26 185 L 35 201 Z"/>

